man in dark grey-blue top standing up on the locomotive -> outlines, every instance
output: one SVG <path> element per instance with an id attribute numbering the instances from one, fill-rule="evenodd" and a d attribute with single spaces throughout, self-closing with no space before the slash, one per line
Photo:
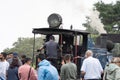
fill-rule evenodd
<path id="1" fill-rule="evenodd" d="M 49 37 L 49 41 L 47 41 L 42 48 L 40 48 L 40 51 L 42 49 L 45 49 L 46 56 L 49 61 L 51 61 L 52 65 L 56 67 L 57 65 L 57 57 L 58 57 L 58 50 L 60 50 L 60 47 L 57 42 L 55 42 L 54 36 Z"/>

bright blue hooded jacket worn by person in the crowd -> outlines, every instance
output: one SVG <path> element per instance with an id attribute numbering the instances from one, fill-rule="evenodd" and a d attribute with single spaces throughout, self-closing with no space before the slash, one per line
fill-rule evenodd
<path id="1" fill-rule="evenodd" d="M 47 60 L 38 64 L 38 80 L 59 80 L 57 69 Z"/>

